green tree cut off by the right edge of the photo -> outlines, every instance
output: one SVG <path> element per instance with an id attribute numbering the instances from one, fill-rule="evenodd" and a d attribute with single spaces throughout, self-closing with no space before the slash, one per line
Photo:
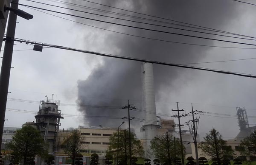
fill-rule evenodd
<path id="1" fill-rule="evenodd" d="M 253 156 L 256 154 L 256 130 L 253 131 L 250 136 L 244 138 L 244 140 L 241 140 L 241 147 L 244 147 L 240 151 L 241 155 L 243 156 Z"/>

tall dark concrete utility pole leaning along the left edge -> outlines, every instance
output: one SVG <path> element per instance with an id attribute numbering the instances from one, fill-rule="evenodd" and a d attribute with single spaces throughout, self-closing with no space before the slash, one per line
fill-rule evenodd
<path id="1" fill-rule="evenodd" d="M 12 2 L 14 3 L 11 4 L 11 8 L 18 9 L 17 3 L 19 3 L 19 0 L 12 0 Z M 14 13 L 14 11 L 10 11 L 0 75 L 0 144 L 2 144 L 3 137 L 3 125 L 6 112 L 6 101 L 8 95 L 10 71 L 12 65 L 12 51 L 14 44 L 12 39 L 15 37 L 16 20 L 17 15 Z"/>

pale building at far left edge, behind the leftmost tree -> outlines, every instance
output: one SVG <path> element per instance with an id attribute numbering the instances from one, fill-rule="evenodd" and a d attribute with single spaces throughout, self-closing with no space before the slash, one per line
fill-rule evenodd
<path id="1" fill-rule="evenodd" d="M 1 150 L 5 149 L 5 144 L 12 141 L 12 137 L 16 134 L 16 131 L 21 129 L 20 127 L 3 127 L 3 138 L 1 144 Z"/>

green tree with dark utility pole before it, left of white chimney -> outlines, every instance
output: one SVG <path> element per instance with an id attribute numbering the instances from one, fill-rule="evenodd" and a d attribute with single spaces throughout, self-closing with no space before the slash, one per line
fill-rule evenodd
<path id="1" fill-rule="evenodd" d="M 125 158 L 125 162 L 129 159 L 129 135 L 127 130 L 119 131 L 119 142 L 118 133 L 115 132 L 111 137 L 109 137 L 110 145 L 108 151 L 119 152 L 119 158 Z M 140 157 L 143 154 L 143 146 L 140 140 L 135 139 L 135 134 L 131 132 L 131 155 Z M 113 153 L 113 157 L 116 157 L 117 152 Z"/>

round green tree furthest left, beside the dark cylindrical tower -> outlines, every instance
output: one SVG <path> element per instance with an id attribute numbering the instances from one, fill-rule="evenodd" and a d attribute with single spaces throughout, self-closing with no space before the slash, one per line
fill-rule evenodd
<path id="1" fill-rule="evenodd" d="M 23 162 L 23 165 L 32 164 L 32 158 L 36 155 L 43 155 L 47 153 L 44 149 L 44 138 L 40 131 L 32 126 L 24 126 L 17 130 L 12 137 L 12 141 L 7 144 L 6 148 L 12 150 L 12 155 L 15 159 Z"/>

